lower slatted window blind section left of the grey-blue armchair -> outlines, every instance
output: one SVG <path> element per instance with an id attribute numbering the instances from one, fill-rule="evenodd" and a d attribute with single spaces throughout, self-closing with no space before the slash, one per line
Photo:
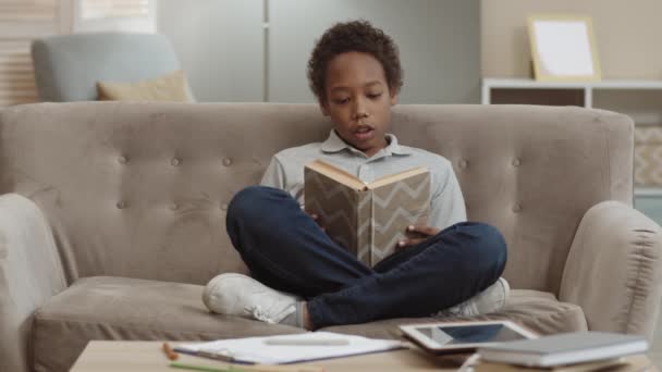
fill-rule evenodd
<path id="1" fill-rule="evenodd" d="M 36 102 L 30 40 L 0 40 L 0 107 Z"/>

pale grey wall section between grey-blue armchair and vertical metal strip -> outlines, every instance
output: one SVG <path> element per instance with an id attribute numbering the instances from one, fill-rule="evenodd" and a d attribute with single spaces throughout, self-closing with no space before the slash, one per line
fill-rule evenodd
<path id="1" fill-rule="evenodd" d="M 157 27 L 196 100 L 262 100 L 262 0 L 159 0 Z"/>

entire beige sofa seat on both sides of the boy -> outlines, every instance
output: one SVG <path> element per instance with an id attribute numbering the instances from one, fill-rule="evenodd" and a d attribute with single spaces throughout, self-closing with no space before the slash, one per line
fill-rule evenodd
<path id="1" fill-rule="evenodd" d="M 35 371 L 65 371 L 90 339 L 208 340 L 269 334 L 302 333 L 301 328 L 210 313 L 203 287 L 127 277 L 95 276 L 76 281 L 35 314 Z M 512 319 L 539 333 L 587 330 L 581 309 L 536 290 L 513 290 L 499 313 L 470 320 Z M 464 320 L 461 318 L 448 321 Z M 397 338 L 397 324 L 437 319 L 392 319 L 324 331 Z M 66 343 L 61 343 L 65 338 Z"/>

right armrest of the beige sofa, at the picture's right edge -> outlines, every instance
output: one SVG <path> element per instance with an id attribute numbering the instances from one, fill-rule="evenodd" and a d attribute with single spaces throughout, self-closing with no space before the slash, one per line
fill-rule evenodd
<path id="1" fill-rule="evenodd" d="M 571 246 L 559 299 L 581 307 L 589 330 L 652 339 L 662 296 L 662 230 L 617 201 L 589 209 Z"/>

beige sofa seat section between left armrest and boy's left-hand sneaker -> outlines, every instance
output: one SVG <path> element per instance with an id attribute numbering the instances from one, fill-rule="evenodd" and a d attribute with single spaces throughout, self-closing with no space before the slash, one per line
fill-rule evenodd
<path id="1" fill-rule="evenodd" d="M 36 312 L 34 370 L 69 371 L 90 339 L 208 340 L 304 332 L 211 314 L 201 295 L 199 285 L 110 276 L 81 278 Z"/>

